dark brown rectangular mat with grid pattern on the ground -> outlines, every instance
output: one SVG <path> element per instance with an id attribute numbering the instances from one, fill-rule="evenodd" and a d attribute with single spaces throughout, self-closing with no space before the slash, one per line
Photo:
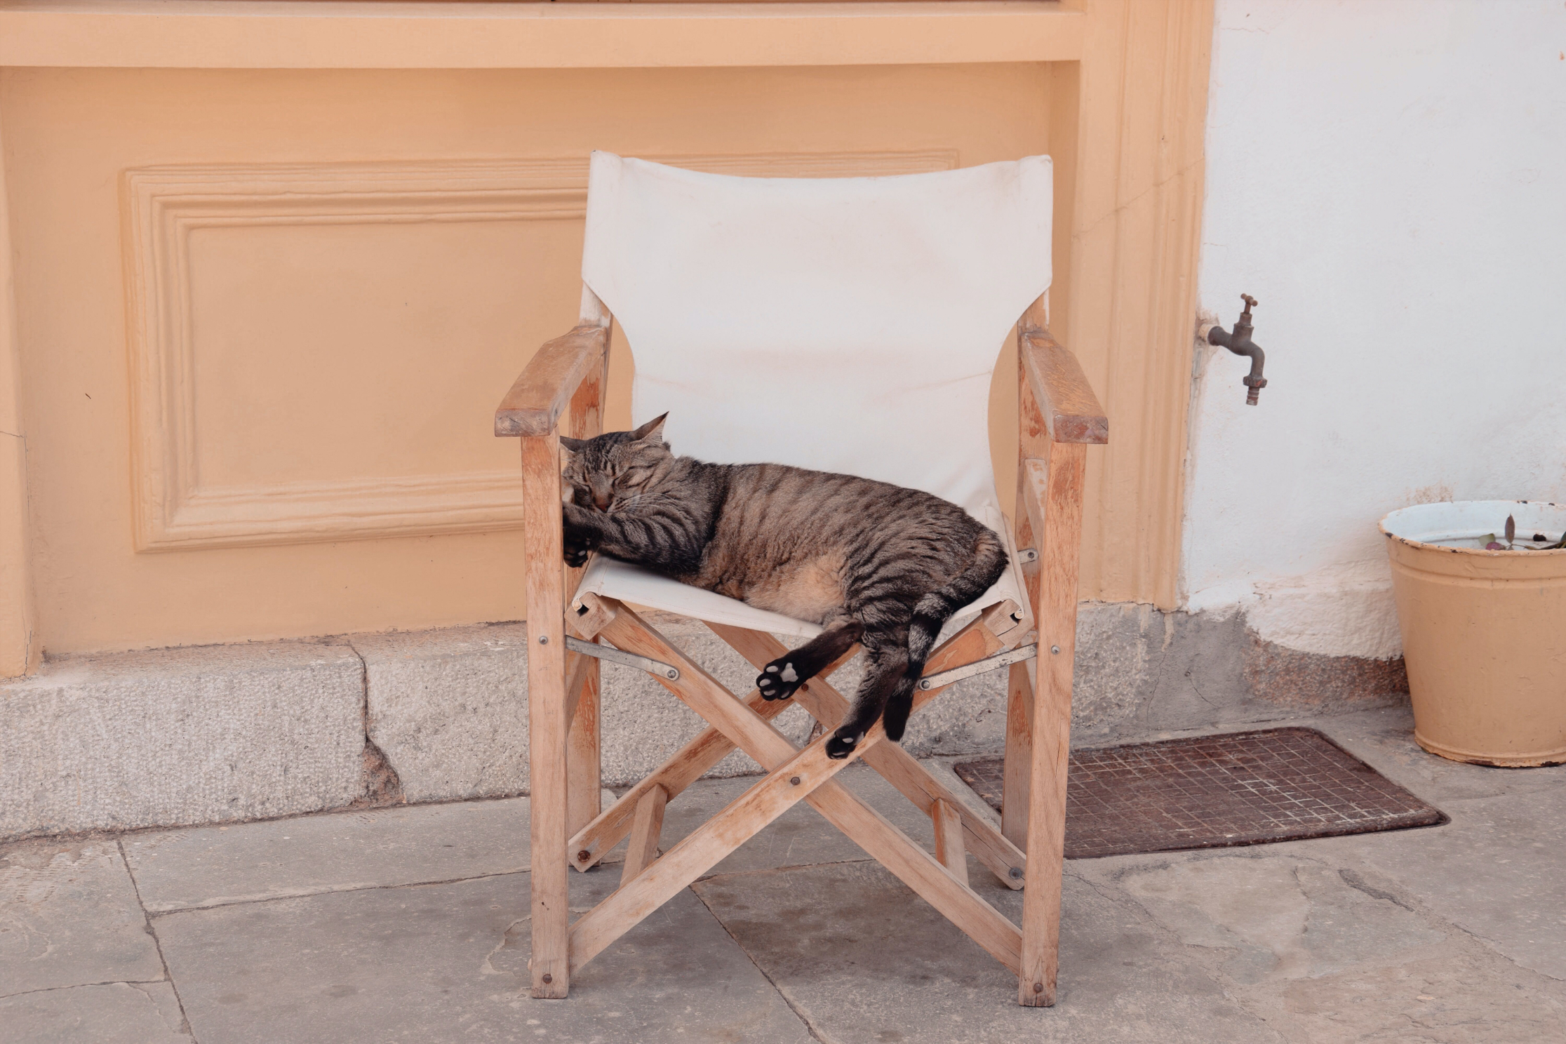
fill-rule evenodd
<path id="1" fill-rule="evenodd" d="M 954 765 L 1001 808 L 1001 759 Z M 1434 826 L 1447 817 L 1315 729 L 1071 751 L 1066 858 Z"/>

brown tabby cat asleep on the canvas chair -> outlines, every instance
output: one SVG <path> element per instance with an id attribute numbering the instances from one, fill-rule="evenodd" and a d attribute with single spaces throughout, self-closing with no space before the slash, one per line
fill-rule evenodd
<path id="1" fill-rule="evenodd" d="M 819 623 L 819 635 L 763 668 L 756 687 L 767 700 L 794 695 L 858 642 L 864 681 L 827 754 L 847 758 L 883 711 L 886 737 L 900 740 L 941 626 L 1005 570 L 1001 538 L 919 490 L 675 457 L 664 416 L 634 432 L 561 438 L 572 454 L 565 562 L 598 551 Z"/>

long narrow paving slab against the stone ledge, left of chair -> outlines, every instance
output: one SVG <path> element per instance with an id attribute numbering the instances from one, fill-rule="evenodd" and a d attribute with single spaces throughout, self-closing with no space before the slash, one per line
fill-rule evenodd
<path id="1" fill-rule="evenodd" d="M 614 794 L 604 790 L 603 800 Z M 528 798 L 200 826 L 124 844 L 155 913 L 515 873 L 532 858 Z"/>

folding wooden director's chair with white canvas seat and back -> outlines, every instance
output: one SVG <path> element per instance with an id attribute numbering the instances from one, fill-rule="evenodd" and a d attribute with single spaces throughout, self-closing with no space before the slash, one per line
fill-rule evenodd
<path id="1" fill-rule="evenodd" d="M 537 352 L 495 415 L 496 435 L 521 437 L 534 997 L 565 997 L 572 972 L 806 801 L 1016 972 L 1021 1003 L 1054 1003 L 1082 481 L 1087 445 L 1107 441 L 1109 427 L 1045 326 L 1051 196 L 1046 157 L 806 180 L 594 153 L 581 321 Z M 1010 667 L 999 830 L 880 725 L 844 761 L 825 756 L 825 736 L 796 748 L 769 723 L 789 701 L 728 692 L 631 604 L 705 620 L 758 668 L 786 648 L 774 632 L 813 635 L 813 625 L 601 556 L 564 567 L 559 437 L 600 432 L 609 308 L 636 354 L 633 421 L 667 410 L 675 452 L 924 488 L 1012 543 L 1012 568 L 943 632 L 915 701 L 918 711 L 960 676 Z M 1015 527 L 998 507 L 987 421 L 1013 326 Z M 792 697 L 827 734 L 847 707 L 827 675 L 852 654 Z M 598 659 L 648 670 L 709 723 L 608 809 Z M 659 856 L 664 805 L 736 747 L 767 775 Z M 933 855 L 833 781 L 855 758 L 930 815 Z M 619 889 L 570 923 L 567 869 L 590 869 L 626 836 Z M 965 853 L 1009 887 L 1026 884 L 1021 927 L 968 886 Z"/>

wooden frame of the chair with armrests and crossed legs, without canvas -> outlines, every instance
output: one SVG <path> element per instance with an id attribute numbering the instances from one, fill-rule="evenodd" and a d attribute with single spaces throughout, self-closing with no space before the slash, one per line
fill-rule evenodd
<path id="1" fill-rule="evenodd" d="M 1046 327 L 1046 297 L 1019 318 L 1018 477 L 1013 548 L 1027 606 L 988 607 L 929 657 L 915 712 L 957 676 L 1009 665 L 1001 826 L 976 814 L 877 723 L 849 758 L 825 740 L 849 701 L 830 675 L 858 646 L 791 698 L 739 697 L 675 648 L 630 606 L 575 598 L 581 568 L 562 560 L 561 435 L 601 432 L 612 316 L 583 286 L 578 326 L 543 344 L 495 413 L 495 434 L 521 438 L 528 609 L 528 756 L 532 845 L 534 997 L 565 997 L 570 977 L 644 917 L 799 801 L 808 803 L 1018 977 L 1018 1002 L 1055 1002 L 1065 845 L 1071 673 L 1076 643 L 1082 485 L 1087 446 L 1109 423 L 1076 357 Z M 708 623 L 756 668 L 786 646 L 763 631 Z M 1030 634 L 1034 632 L 1035 634 Z M 1037 664 L 1029 670 L 1027 639 Z M 609 808 L 600 803 L 598 659 L 633 662 L 706 720 L 706 728 Z M 791 703 L 821 725 L 797 748 L 770 720 Z M 755 786 L 659 855 L 664 806 L 739 748 L 766 770 Z M 879 772 L 935 828 L 926 851 L 833 779 L 855 759 Z M 592 869 L 630 836 L 619 887 L 570 920 L 570 867 Z M 965 853 L 1002 884 L 1024 889 L 1015 925 L 968 883 Z"/>

